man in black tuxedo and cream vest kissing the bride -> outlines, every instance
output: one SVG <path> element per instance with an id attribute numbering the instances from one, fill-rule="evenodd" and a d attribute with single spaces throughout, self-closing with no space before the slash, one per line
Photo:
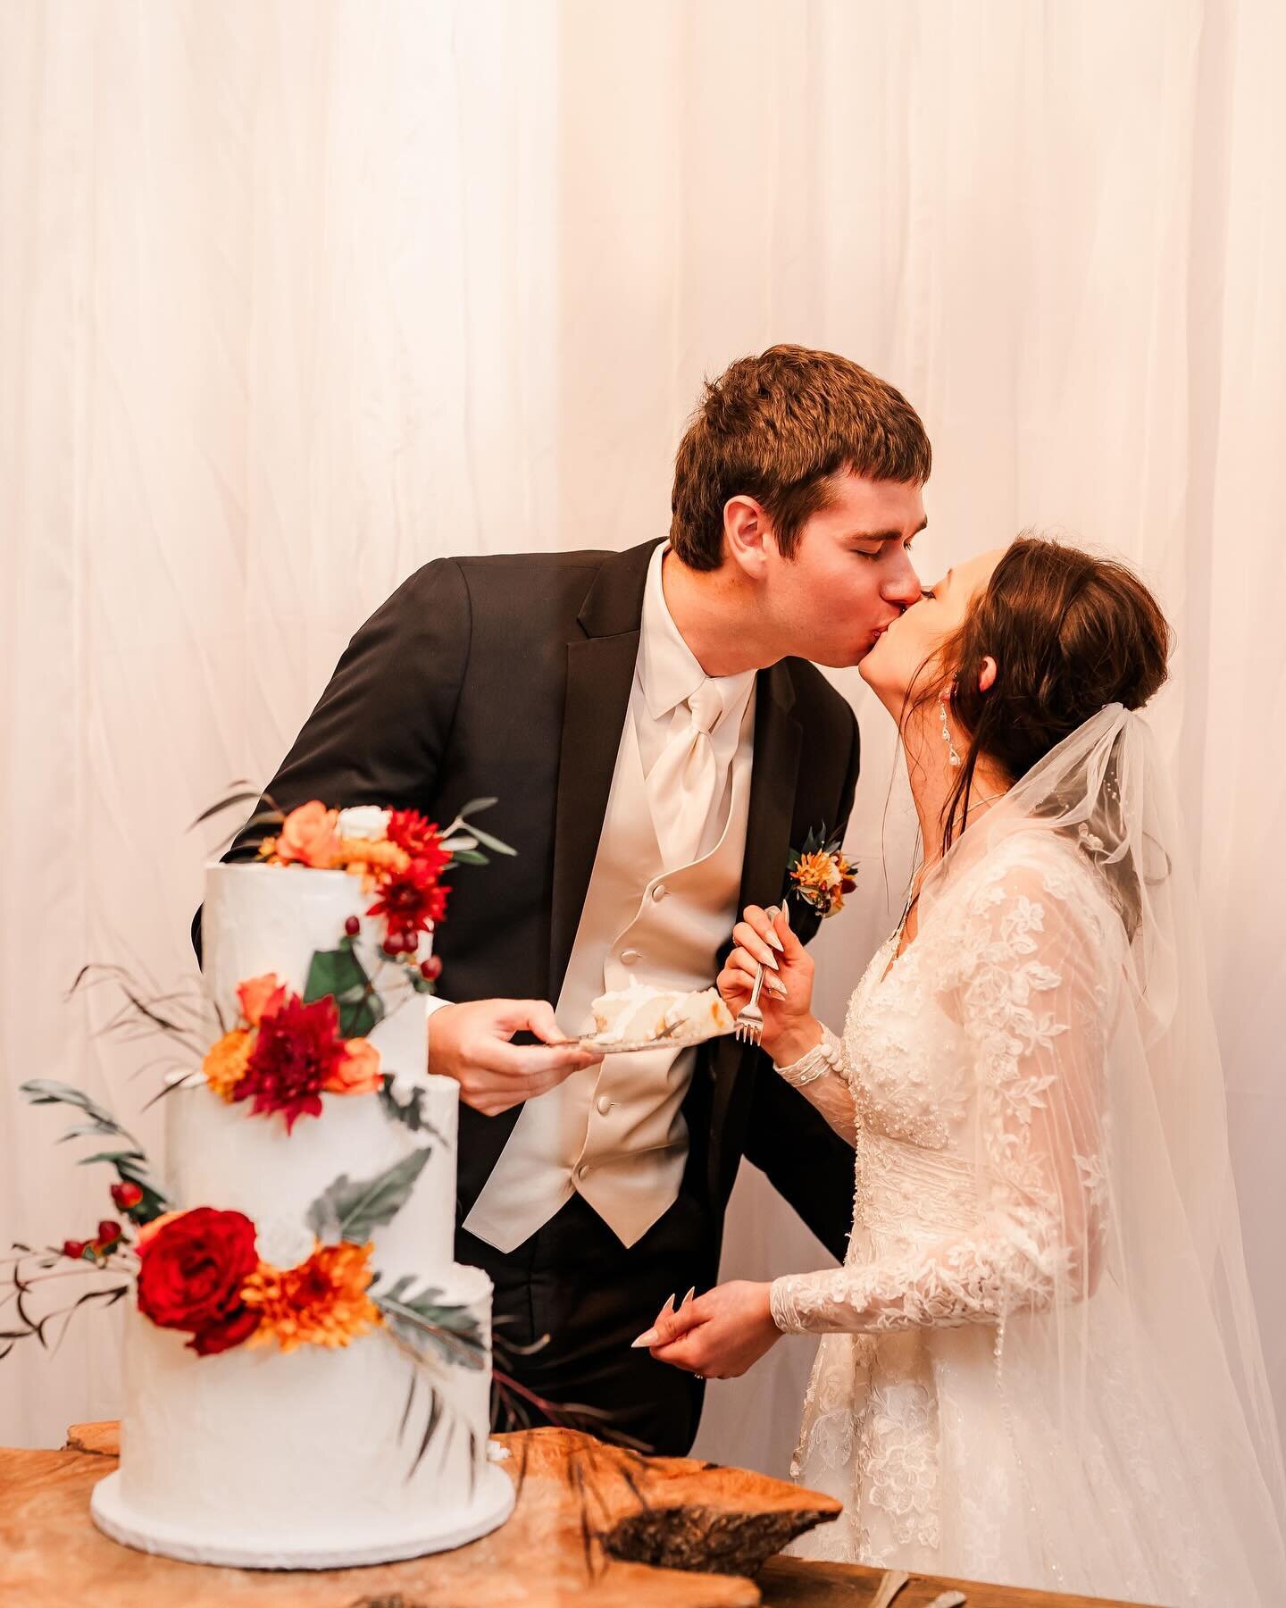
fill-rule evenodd
<path id="1" fill-rule="evenodd" d="M 741 1156 L 841 1257 L 854 1156 L 731 1037 L 601 1061 L 559 1040 L 604 987 L 707 987 L 789 849 L 842 833 L 857 724 L 804 661 L 855 664 L 919 597 L 929 463 L 915 410 L 855 363 L 743 359 L 678 447 L 669 542 L 426 564 L 268 786 L 434 820 L 498 798 L 487 828 L 518 859 L 460 880 L 436 936 L 457 1257 L 490 1275 L 502 1344 L 550 1336 L 506 1364 L 526 1391 L 659 1452 L 691 1446 L 702 1383 L 630 1341 L 717 1278 Z"/>

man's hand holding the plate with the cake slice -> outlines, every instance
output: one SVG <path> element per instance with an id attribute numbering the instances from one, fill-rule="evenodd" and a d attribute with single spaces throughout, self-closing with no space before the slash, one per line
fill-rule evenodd
<path id="1" fill-rule="evenodd" d="M 510 1044 L 516 1032 L 543 1042 Z M 548 1000 L 473 1000 L 429 1018 L 429 1071 L 453 1077 L 460 1098 L 482 1116 L 534 1100 L 601 1060 L 567 1039 Z"/>

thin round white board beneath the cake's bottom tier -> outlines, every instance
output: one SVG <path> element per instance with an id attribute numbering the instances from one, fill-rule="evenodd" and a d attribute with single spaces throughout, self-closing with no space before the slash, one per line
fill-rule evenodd
<path id="1" fill-rule="evenodd" d="M 121 1492 L 119 1470 L 100 1479 L 90 1499 L 93 1523 L 125 1547 L 178 1558 L 180 1563 L 220 1563 L 236 1569 L 347 1569 L 360 1565 L 397 1563 L 429 1552 L 450 1552 L 490 1534 L 513 1513 L 514 1486 L 503 1468 L 490 1463 L 477 1476 L 473 1502 L 447 1528 L 408 1529 L 379 1542 L 350 1547 L 248 1547 L 244 1537 L 195 1534 L 180 1524 L 159 1524 L 129 1507 Z"/>

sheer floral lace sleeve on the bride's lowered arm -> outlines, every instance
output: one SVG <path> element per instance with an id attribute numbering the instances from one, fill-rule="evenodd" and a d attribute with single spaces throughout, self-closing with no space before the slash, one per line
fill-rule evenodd
<path id="1" fill-rule="evenodd" d="M 989 1323 L 1093 1291 L 1106 1233 L 1111 946 L 1077 870 L 1010 863 L 950 917 L 958 942 L 939 989 L 976 1074 L 974 1230 L 865 1265 L 778 1278 L 772 1312 L 783 1331 Z"/>

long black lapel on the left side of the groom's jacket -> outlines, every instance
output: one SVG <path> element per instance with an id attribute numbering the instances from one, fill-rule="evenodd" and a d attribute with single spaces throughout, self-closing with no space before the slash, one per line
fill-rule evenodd
<path id="1" fill-rule="evenodd" d="M 580 608 L 577 634 L 567 643 L 550 921 L 553 1000 L 563 987 L 608 812 L 656 545 L 648 542 L 603 561 Z"/>

